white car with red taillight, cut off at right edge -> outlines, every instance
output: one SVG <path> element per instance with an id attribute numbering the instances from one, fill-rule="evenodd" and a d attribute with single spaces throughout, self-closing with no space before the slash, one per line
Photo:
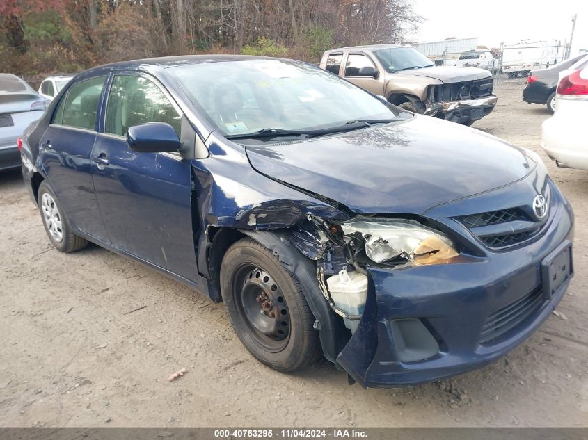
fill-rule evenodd
<path id="1" fill-rule="evenodd" d="M 588 170 L 588 62 L 557 85 L 556 111 L 541 126 L 541 147 L 559 167 Z"/>

